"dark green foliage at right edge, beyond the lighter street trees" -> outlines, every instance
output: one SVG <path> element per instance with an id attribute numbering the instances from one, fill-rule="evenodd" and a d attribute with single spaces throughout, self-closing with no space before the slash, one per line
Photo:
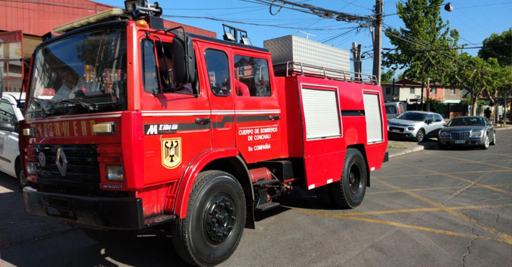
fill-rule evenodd
<path id="1" fill-rule="evenodd" d="M 484 60 L 496 58 L 500 66 L 512 66 L 512 28 L 503 33 L 493 33 L 484 40 L 479 57 Z"/>

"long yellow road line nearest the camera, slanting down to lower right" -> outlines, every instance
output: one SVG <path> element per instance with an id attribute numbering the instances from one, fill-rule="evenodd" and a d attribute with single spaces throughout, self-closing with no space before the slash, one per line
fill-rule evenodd
<path id="1" fill-rule="evenodd" d="M 390 225 L 393 227 L 415 229 L 415 230 L 420 230 L 420 231 L 430 231 L 432 233 L 447 234 L 449 236 L 459 236 L 459 237 L 467 237 L 467 238 L 473 238 L 473 239 L 503 241 L 501 239 L 493 239 L 493 238 L 485 237 L 485 236 L 476 236 L 474 234 L 462 234 L 462 233 L 457 233 L 454 231 L 444 231 L 444 230 L 432 229 L 432 228 L 427 228 L 427 227 L 419 227 L 419 226 L 411 225 L 411 224 L 400 224 L 398 222 L 387 222 L 387 221 L 382 221 L 379 219 L 366 219 L 366 218 L 355 217 L 355 216 L 354 217 L 352 217 L 352 216 L 343 217 L 343 216 L 339 216 L 340 214 L 329 214 L 329 213 L 326 213 L 325 211 L 312 211 L 312 210 L 305 210 L 305 209 L 292 209 L 292 210 L 294 212 L 300 212 L 300 213 L 304 213 L 304 214 L 334 217 L 334 218 L 340 218 L 340 219 L 350 219 L 350 220 L 359 221 L 359 222 L 372 222 L 375 224 L 386 224 L 386 225 Z"/>

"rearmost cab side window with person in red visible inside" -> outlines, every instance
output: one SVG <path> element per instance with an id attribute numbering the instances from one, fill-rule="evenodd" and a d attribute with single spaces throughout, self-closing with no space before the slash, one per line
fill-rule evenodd
<path id="1" fill-rule="evenodd" d="M 270 97 L 270 75 L 267 60 L 235 55 L 235 92 L 241 97 Z"/>

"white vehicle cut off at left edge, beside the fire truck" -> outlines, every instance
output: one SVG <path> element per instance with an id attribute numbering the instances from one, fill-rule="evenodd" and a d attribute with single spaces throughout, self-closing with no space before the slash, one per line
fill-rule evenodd
<path id="1" fill-rule="evenodd" d="M 0 99 L 0 171 L 19 180 L 25 187 L 27 180 L 21 170 L 18 148 L 18 121 L 23 119 L 19 107 L 25 104 L 25 93 L 4 92 Z"/>

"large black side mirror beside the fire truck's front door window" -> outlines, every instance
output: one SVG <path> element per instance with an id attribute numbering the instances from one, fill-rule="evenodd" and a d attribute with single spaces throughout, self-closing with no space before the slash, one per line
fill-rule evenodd
<path id="1" fill-rule="evenodd" d="M 183 37 L 176 36 L 172 42 L 174 79 L 178 84 L 193 82 L 196 76 L 196 55 L 193 50 L 192 38 L 184 33 Z"/>

